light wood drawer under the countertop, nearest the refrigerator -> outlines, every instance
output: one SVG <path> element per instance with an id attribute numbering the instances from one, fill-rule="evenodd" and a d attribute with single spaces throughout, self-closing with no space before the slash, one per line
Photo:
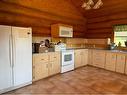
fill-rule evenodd
<path id="1" fill-rule="evenodd" d="M 34 56 L 34 62 L 35 63 L 42 63 L 42 62 L 48 62 L 49 61 L 49 57 L 48 54 L 38 54 L 36 56 Z"/>

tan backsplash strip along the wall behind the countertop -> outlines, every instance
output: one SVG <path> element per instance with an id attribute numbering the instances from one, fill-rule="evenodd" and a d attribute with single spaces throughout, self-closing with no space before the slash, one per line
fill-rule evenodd
<path id="1" fill-rule="evenodd" d="M 33 37 L 33 43 L 40 43 L 48 39 L 51 42 L 57 43 L 59 41 L 66 43 L 67 48 L 106 48 L 107 39 L 84 39 L 84 38 L 51 38 L 51 37 Z"/>

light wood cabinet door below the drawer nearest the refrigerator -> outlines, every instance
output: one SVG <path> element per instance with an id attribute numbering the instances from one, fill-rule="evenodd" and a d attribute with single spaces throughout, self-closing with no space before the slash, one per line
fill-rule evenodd
<path id="1" fill-rule="evenodd" d="M 48 77 L 48 63 L 36 63 L 34 67 L 34 80 Z"/>

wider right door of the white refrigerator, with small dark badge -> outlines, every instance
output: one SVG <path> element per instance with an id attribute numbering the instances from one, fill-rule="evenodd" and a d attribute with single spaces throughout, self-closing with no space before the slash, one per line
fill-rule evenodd
<path id="1" fill-rule="evenodd" d="M 32 82 L 31 28 L 12 27 L 14 86 Z"/>

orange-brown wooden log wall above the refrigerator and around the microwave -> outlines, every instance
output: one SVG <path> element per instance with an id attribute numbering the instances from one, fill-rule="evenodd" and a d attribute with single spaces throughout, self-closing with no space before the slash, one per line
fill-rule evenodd
<path id="1" fill-rule="evenodd" d="M 75 37 L 83 37 L 86 19 L 66 0 L 1 0 L 0 24 L 32 27 L 34 36 L 51 36 L 51 25 L 74 27 Z"/>

